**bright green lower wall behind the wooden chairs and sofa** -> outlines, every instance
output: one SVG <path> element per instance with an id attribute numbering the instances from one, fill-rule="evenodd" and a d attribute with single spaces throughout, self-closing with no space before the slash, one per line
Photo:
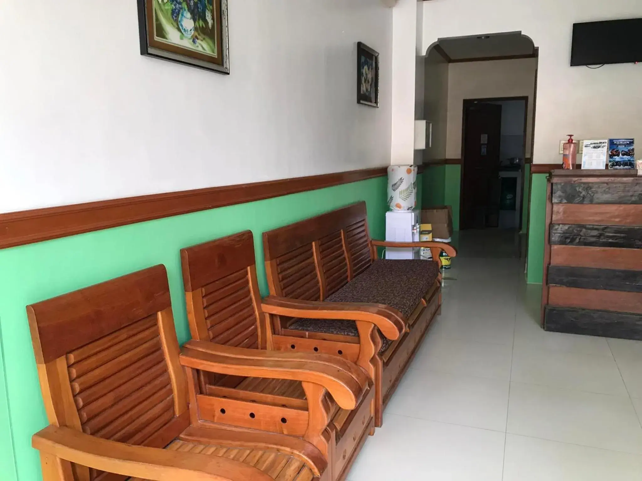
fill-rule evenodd
<path id="1" fill-rule="evenodd" d="M 17 480 L 41 478 L 31 435 L 47 425 L 25 306 L 138 269 L 165 264 L 180 342 L 189 329 L 180 274 L 179 249 L 245 229 L 254 231 L 261 292 L 267 285 L 261 233 L 365 200 L 373 237 L 385 232 L 386 178 L 234 205 L 193 214 L 91 232 L 54 241 L 0 250 L 0 328 Z M 2 384 L 2 383 L 0 383 Z M 4 394 L 0 388 L 0 425 Z M 3 447 L 6 441 L 3 435 Z M 0 476 L 14 481 L 10 451 L 0 451 Z M 7 470 L 4 467 L 8 466 Z M 7 477 L 8 475 L 8 477 Z"/>

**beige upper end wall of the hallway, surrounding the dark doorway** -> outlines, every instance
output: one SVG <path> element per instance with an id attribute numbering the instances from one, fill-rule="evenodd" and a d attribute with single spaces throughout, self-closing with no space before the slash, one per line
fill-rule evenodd
<path id="1" fill-rule="evenodd" d="M 492 97 L 528 97 L 526 156 L 530 156 L 536 70 L 537 58 L 450 63 L 448 65 L 447 158 L 462 156 L 464 99 Z M 537 109 L 539 110 L 539 96 Z"/>

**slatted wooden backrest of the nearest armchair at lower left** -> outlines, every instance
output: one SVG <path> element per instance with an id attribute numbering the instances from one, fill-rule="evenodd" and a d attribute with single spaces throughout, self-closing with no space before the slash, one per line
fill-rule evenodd
<path id="1" fill-rule="evenodd" d="M 27 307 L 49 423 L 156 448 L 189 426 L 164 266 Z M 78 481 L 124 477 L 74 466 Z"/>

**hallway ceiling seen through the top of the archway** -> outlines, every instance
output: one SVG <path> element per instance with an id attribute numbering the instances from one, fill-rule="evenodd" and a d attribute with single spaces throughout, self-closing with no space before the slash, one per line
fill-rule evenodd
<path id="1" fill-rule="evenodd" d="M 534 52 L 532 40 L 523 36 L 521 32 L 440 38 L 438 44 L 452 60 L 530 55 Z"/>

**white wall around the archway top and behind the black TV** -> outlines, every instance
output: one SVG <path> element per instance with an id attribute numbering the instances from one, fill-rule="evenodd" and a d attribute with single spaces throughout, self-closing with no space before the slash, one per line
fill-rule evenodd
<path id="1" fill-rule="evenodd" d="M 569 67 L 574 22 L 642 17 L 640 0 L 435 0 L 424 5 L 424 50 L 443 37 L 521 30 L 539 47 L 533 161 L 561 162 L 559 140 L 642 139 L 642 65 Z M 625 112 L 623 115 L 622 112 Z"/>

